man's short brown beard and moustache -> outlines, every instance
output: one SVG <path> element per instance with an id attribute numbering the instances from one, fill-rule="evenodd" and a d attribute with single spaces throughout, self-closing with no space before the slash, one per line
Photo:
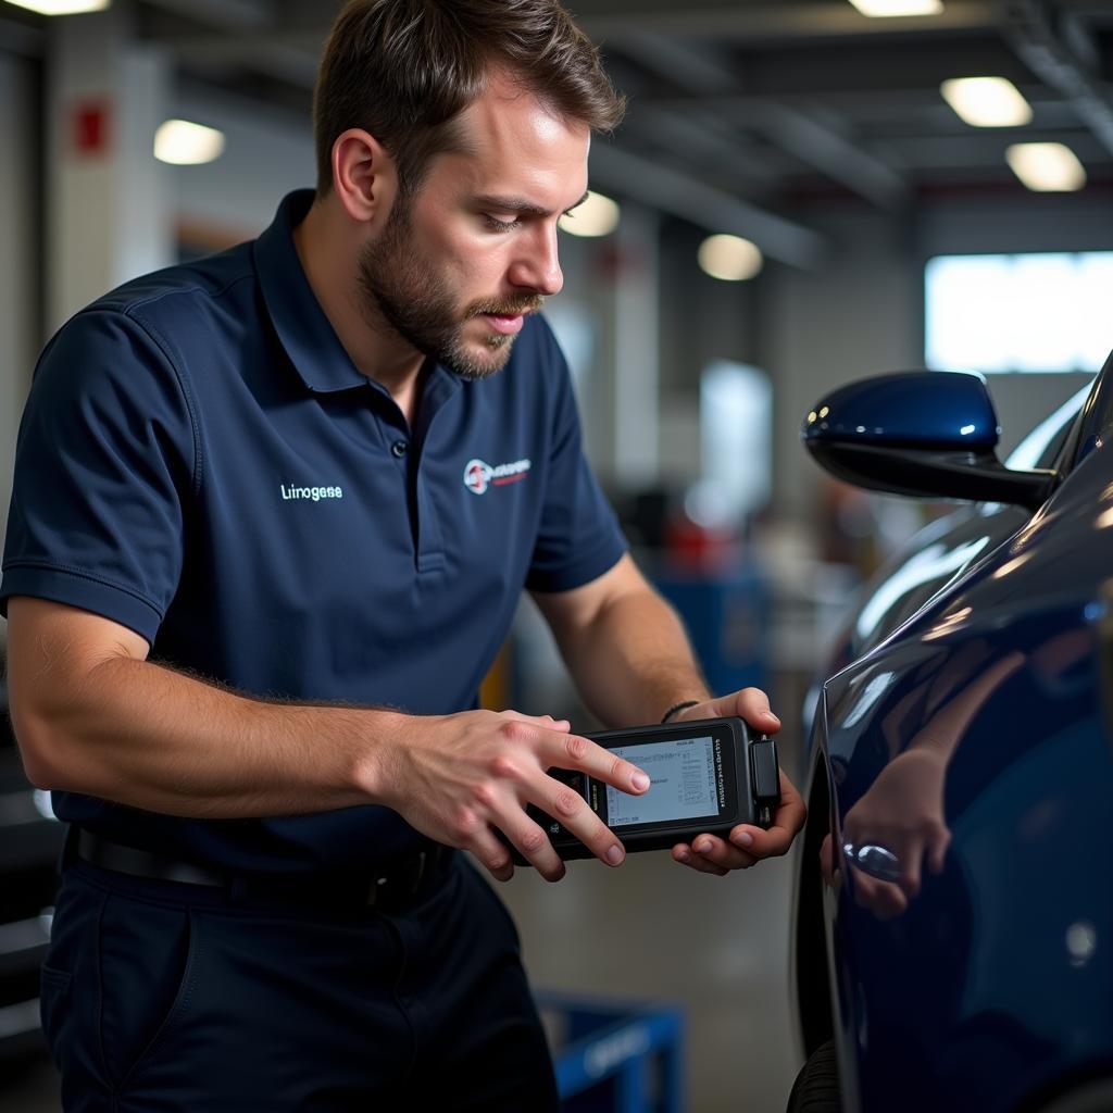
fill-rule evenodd
<path id="1" fill-rule="evenodd" d="M 541 298 L 529 294 L 457 308 L 449 284 L 417 254 L 411 205 L 401 196 L 378 239 L 363 248 L 357 265 L 364 315 L 376 324 L 385 322 L 422 355 L 469 381 L 502 371 L 514 337 L 491 332 L 484 341 L 485 349 L 476 353 L 469 349 L 464 338 L 467 323 L 483 314 L 513 317 L 541 307 Z"/>

